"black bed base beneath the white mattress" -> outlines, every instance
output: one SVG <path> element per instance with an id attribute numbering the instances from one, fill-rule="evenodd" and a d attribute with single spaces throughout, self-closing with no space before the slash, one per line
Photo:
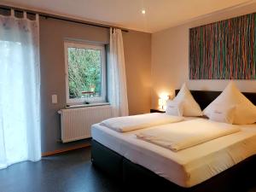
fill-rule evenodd
<path id="1" fill-rule="evenodd" d="M 182 188 L 92 140 L 91 161 L 119 183 L 123 191 L 231 192 L 256 184 L 256 155 L 192 188 Z"/>

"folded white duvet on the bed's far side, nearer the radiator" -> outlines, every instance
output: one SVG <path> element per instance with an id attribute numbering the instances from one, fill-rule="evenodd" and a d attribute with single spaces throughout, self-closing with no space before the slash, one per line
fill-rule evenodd
<path id="1" fill-rule="evenodd" d="M 183 117 L 172 116 L 166 113 L 146 113 L 106 119 L 100 125 L 107 126 L 114 131 L 126 132 L 155 125 L 171 124 L 182 120 Z"/>

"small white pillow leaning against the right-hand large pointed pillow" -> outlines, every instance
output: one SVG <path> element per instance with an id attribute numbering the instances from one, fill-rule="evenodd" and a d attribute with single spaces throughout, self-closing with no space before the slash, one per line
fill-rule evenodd
<path id="1" fill-rule="evenodd" d="M 236 113 L 236 106 L 231 106 L 230 108 L 223 108 L 223 106 L 215 105 L 213 106 L 213 110 L 210 114 L 209 119 L 233 124 Z"/>

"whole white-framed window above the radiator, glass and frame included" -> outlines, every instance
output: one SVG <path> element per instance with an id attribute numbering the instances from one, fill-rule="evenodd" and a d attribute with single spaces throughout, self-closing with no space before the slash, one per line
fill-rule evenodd
<path id="1" fill-rule="evenodd" d="M 65 42 L 67 103 L 106 101 L 104 45 Z"/>

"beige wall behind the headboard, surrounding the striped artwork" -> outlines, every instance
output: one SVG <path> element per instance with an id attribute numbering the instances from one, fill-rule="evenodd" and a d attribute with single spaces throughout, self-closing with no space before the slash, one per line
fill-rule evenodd
<path id="1" fill-rule="evenodd" d="M 255 10 L 256 3 L 253 3 L 152 34 L 152 107 L 157 107 L 157 99 L 162 92 L 171 95 L 183 82 L 191 90 L 224 90 L 228 80 L 189 80 L 189 28 L 246 15 Z M 256 92 L 255 80 L 235 82 L 241 91 Z"/>

